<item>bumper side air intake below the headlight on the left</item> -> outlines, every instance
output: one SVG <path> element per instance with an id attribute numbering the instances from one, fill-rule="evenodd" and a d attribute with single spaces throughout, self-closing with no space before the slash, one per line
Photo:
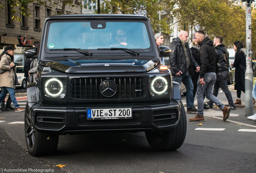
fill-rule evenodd
<path id="1" fill-rule="evenodd" d="M 37 127 L 42 129 L 61 129 L 65 125 L 64 113 L 38 112 L 35 114 L 35 120 Z"/>

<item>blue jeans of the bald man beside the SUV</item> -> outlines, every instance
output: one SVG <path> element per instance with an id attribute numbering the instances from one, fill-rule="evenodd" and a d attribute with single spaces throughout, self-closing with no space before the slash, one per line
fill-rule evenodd
<path id="1" fill-rule="evenodd" d="M 194 85 L 191 79 L 191 76 L 177 76 L 175 75 L 173 77 L 173 81 L 174 82 L 178 82 L 179 84 L 181 84 L 181 82 L 185 85 L 186 87 L 186 101 L 187 101 L 187 108 L 192 108 L 194 107 L 194 98 L 193 98 L 193 89 L 194 89 Z"/>

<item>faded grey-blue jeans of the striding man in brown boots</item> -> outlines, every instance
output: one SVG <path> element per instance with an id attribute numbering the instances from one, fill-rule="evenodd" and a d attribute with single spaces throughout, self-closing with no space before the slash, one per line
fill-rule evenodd
<path id="1" fill-rule="evenodd" d="M 196 92 L 196 97 L 197 97 L 197 105 L 198 105 L 198 115 L 204 116 L 204 93 L 205 97 L 215 103 L 219 109 L 223 109 L 225 105 L 217 99 L 213 95 L 213 84 L 215 83 L 216 80 L 216 74 L 215 72 L 207 72 L 204 74 L 204 82 L 205 85 L 200 84 L 200 78 L 198 78 L 197 82 L 197 92 Z"/>

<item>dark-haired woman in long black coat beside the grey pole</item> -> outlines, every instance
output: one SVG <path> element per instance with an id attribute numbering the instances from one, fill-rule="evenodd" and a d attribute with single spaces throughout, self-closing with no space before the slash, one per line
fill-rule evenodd
<path id="1" fill-rule="evenodd" d="M 245 70 L 246 70 L 246 55 L 242 51 L 243 44 L 240 41 L 234 42 L 235 60 L 233 67 L 235 67 L 235 90 L 237 99 L 234 102 L 235 105 L 242 105 L 241 92 L 245 93 Z"/>

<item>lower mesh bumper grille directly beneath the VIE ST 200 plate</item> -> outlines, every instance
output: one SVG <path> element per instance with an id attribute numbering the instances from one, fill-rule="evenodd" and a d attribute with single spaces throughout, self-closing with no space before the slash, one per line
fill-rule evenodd
<path id="1" fill-rule="evenodd" d="M 113 124 L 139 124 L 140 113 L 133 112 L 132 119 L 106 119 L 106 120 L 87 120 L 87 113 L 78 114 L 79 125 L 113 125 Z"/>

